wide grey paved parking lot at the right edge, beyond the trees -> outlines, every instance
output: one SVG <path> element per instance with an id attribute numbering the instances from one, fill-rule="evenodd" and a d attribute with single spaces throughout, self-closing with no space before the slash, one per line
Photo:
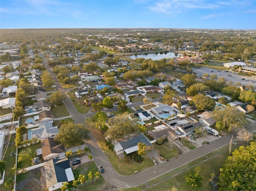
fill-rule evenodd
<path id="1" fill-rule="evenodd" d="M 249 75 L 248 76 L 242 76 L 242 75 L 238 75 L 238 74 L 230 73 L 230 72 L 225 72 L 225 71 L 219 71 L 218 72 L 218 70 L 207 68 L 207 67 L 201 67 L 201 68 L 198 68 L 198 69 L 193 69 L 193 71 L 196 73 L 197 77 L 202 77 L 202 75 L 204 73 L 208 73 L 209 75 L 219 74 L 219 75 L 217 75 L 218 77 L 224 77 L 227 81 L 234 82 L 234 85 L 237 82 L 240 82 L 242 85 L 252 85 L 254 88 L 256 87 L 256 79 L 251 78 Z M 211 71 L 213 71 L 213 72 L 211 72 Z M 231 75 L 231 76 L 227 76 L 227 75 Z M 242 80 L 243 78 L 248 79 L 248 81 Z M 250 83 L 250 81 L 252 81 L 252 83 Z"/>

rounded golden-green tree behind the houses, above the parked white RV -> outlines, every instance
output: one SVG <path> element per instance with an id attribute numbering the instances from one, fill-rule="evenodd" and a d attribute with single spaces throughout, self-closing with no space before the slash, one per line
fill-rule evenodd
<path id="1" fill-rule="evenodd" d="M 215 106 L 215 101 L 204 95 L 196 95 L 192 98 L 192 102 L 196 106 L 198 111 L 212 110 Z"/>

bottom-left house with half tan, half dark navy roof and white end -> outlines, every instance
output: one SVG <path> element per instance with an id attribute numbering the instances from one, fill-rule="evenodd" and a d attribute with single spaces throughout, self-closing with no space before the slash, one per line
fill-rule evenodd
<path id="1" fill-rule="evenodd" d="M 60 189 L 63 183 L 75 179 L 68 158 L 52 159 L 44 163 L 44 174 L 49 191 Z"/>

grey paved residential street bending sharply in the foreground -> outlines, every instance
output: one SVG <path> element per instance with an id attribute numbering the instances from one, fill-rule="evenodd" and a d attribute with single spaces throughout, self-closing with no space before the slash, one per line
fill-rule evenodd
<path id="1" fill-rule="evenodd" d="M 42 58 L 44 56 L 40 54 Z M 46 66 L 46 69 L 52 73 L 50 67 L 47 65 L 47 61 L 44 58 L 44 64 Z M 58 79 L 56 78 L 55 75 L 53 75 L 53 79 L 56 83 L 56 87 L 58 88 L 59 91 L 62 93 L 66 92 L 66 89 L 64 89 Z M 152 100 L 155 101 L 156 99 Z M 68 108 L 68 111 L 70 112 L 72 118 L 75 120 L 76 123 L 82 123 L 84 124 L 84 119 L 85 116 L 90 116 L 91 114 L 80 114 L 70 98 L 66 98 L 64 101 L 66 107 Z M 136 103 L 136 104 L 131 104 L 129 106 L 136 106 L 137 104 L 141 103 Z M 253 129 L 256 129 L 256 123 L 253 124 Z M 172 171 L 173 169 L 176 169 L 177 167 L 180 167 L 181 165 L 184 165 L 190 161 L 193 161 L 197 158 L 200 158 L 218 148 L 221 148 L 222 146 L 228 144 L 230 142 L 230 139 L 234 135 L 236 136 L 235 133 L 230 133 L 226 136 L 223 136 L 213 142 L 210 142 L 210 144 L 205 144 L 199 148 L 196 148 L 186 154 L 181 154 L 177 156 L 176 158 L 169 159 L 169 161 L 160 163 L 158 165 L 155 165 L 153 167 L 150 167 L 142 172 L 139 172 L 135 175 L 130 175 L 130 176 L 123 176 L 119 175 L 116 173 L 115 169 L 112 167 L 110 162 L 108 161 L 108 158 L 104 154 L 104 152 L 101 150 L 100 146 L 96 142 L 94 136 L 90 133 L 90 140 L 86 141 L 86 144 L 88 145 L 92 156 L 94 157 L 94 160 L 97 165 L 102 165 L 105 169 L 105 173 L 103 173 L 103 177 L 105 180 L 109 181 L 112 185 L 115 185 L 117 187 L 122 187 L 122 188 L 129 188 L 129 187 L 135 187 L 138 185 L 141 185 L 142 183 L 145 183 L 147 181 L 150 181 L 166 172 Z"/>

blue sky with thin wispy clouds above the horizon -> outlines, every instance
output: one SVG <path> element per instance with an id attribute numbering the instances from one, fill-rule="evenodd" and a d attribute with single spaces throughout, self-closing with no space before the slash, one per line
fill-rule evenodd
<path id="1" fill-rule="evenodd" d="M 0 28 L 256 29 L 256 0 L 1 0 Z"/>

